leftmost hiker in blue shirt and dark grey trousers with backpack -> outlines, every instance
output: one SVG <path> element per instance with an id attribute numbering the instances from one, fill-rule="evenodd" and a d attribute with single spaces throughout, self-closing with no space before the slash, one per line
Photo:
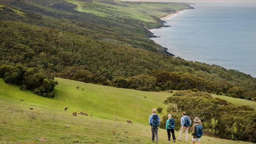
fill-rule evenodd
<path id="1" fill-rule="evenodd" d="M 156 135 L 156 143 L 158 144 L 158 125 L 160 124 L 160 117 L 156 114 L 156 109 L 152 110 L 153 114 L 149 117 L 148 123 L 151 125 L 152 140 L 154 142 Z"/>

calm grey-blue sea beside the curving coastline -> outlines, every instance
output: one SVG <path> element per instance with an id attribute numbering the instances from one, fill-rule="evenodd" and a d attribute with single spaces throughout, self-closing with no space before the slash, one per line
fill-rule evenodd
<path id="1" fill-rule="evenodd" d="M 256 77 L 256 4 L 196 4 L 166 19 L 152 38 L 186 60 L 217 64 Z"/>

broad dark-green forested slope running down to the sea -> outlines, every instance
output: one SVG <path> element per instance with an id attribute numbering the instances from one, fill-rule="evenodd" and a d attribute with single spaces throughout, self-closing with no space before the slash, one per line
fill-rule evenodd
<path id="1" fill-rule="evenodd" d="M 165 55 L 163 47 L 147 39 L 149 25 L 163 26 L 157 17 L 146 22 L 100 16 L 58 0 L 0 3 L 0 64 L 21 63 L 47 75 L 139 90 L 256 95 L 250 75 Z"/>

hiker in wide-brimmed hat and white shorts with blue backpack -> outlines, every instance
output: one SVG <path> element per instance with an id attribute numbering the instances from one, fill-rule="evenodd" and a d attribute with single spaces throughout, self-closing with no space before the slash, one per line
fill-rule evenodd
<path id="1" fill-rule="evenodd" d="M 195 142 L 197 142 L 197 144 L 200 144 L 201 141 L 201 137 L 203 136 L 203 126 L 201 124 L 201 120 L 198 117 L 195 117 L 194 120 L 194 124 L 193 124 L 193 131 L 192 131 L 192 143 L 194 144 Z"/>

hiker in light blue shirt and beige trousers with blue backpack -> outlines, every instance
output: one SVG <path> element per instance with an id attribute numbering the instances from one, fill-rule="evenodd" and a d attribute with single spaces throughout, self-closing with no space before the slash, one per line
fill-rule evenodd
<path id="1" fill-rule="evenodd" d="M 186 116 L 186 112 L 182 113 L 183 116 L 181 117 L 181 130 L 179 135 L 179 141 L 181 141 L 182 133 L 185 132 L 185 142 L 187 142 L 188 139 L 188 129 L 191 125 L 191 120 L 188 116 Z"/>

